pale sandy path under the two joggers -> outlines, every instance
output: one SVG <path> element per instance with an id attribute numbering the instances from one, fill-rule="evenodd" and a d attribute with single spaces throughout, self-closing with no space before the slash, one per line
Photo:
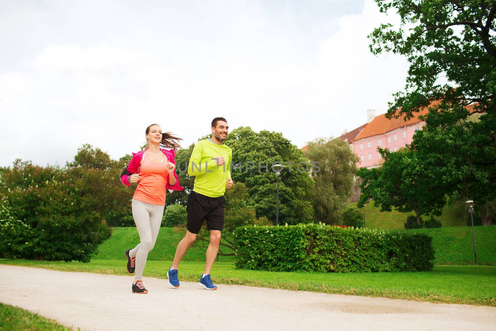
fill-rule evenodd
<path id="1" fill-rule="evenodd" d="M 0 265 L 0 302 L 81 330 L 496 330 L 496 308 Z M 214 279 L 215 280 L 215 279 Z"/>

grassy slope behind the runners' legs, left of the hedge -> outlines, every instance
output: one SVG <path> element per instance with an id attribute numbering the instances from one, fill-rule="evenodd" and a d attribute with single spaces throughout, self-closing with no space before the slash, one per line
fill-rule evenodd
<path id="1" fill-rule="evenodd" d="M 185 232 L 186 230 L 183 229 L 160 228 L 155 247 L 148 253 L 148 260 L 173 260 L 178 243 L 183 239 Z M 125 250 L 134 248 L 138 243 L 139 235 L 136 228 L 113 228 L 112 237 L 100 245 L 100 253 L 93 259 L 125 259 Z M 205 251 L 191 246 L 183 261 L 205 261 Z M 234 257 L 220 256 L 219 261 L 233 262 Z"/>

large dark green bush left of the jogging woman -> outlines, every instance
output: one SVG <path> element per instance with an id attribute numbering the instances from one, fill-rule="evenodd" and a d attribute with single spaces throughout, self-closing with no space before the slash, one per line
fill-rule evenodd
<path id="1" fill-rule="evenodd" d="M 111 232 L 102 214 L 113 202 L 102 197 L 98 185 L 110 179 L 106 174 L 107 170 L 40 167 L 20 160 L 13 169 L 4 168 L 0 177 L 2 255 L 89 262 Z M 110 188 L 105 193 L 112 195 Z"/>

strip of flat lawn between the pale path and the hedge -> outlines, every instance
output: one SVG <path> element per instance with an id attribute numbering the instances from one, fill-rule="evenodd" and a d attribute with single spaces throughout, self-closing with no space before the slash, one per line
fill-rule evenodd
<path id="1" fill-rule="evenodd" d="M 124 258 L 90 263 L 0 260 L 0 264 L 8 265 L 128 275 L 125 262 Z M 148 261 L 143 275 L 165 279 L 170 265 L 170 261 Z M 198 281 L 202 271 L 201 262 L 182 262 L 180 280 Z M 214 264 L 212 278 L 219 284 L 496 306 L 494 266 L 435 266 L 434 271 L 426 272 L 321 273 L 243 270 L 232 263 L 219 262 Z"/>

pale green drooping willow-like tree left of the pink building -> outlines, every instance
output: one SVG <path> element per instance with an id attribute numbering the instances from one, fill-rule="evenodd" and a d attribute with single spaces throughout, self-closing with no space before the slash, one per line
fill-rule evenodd
<path id="1" fill-rule="evenodd" d="M 305 155 L 310 162 L 320 162 L 320 171 L 312 171 L 314 220 L 337 224 L 353 194 L 353 177 L 358 157 L 341 139 L 317 138 L 308 143 Z"/>

